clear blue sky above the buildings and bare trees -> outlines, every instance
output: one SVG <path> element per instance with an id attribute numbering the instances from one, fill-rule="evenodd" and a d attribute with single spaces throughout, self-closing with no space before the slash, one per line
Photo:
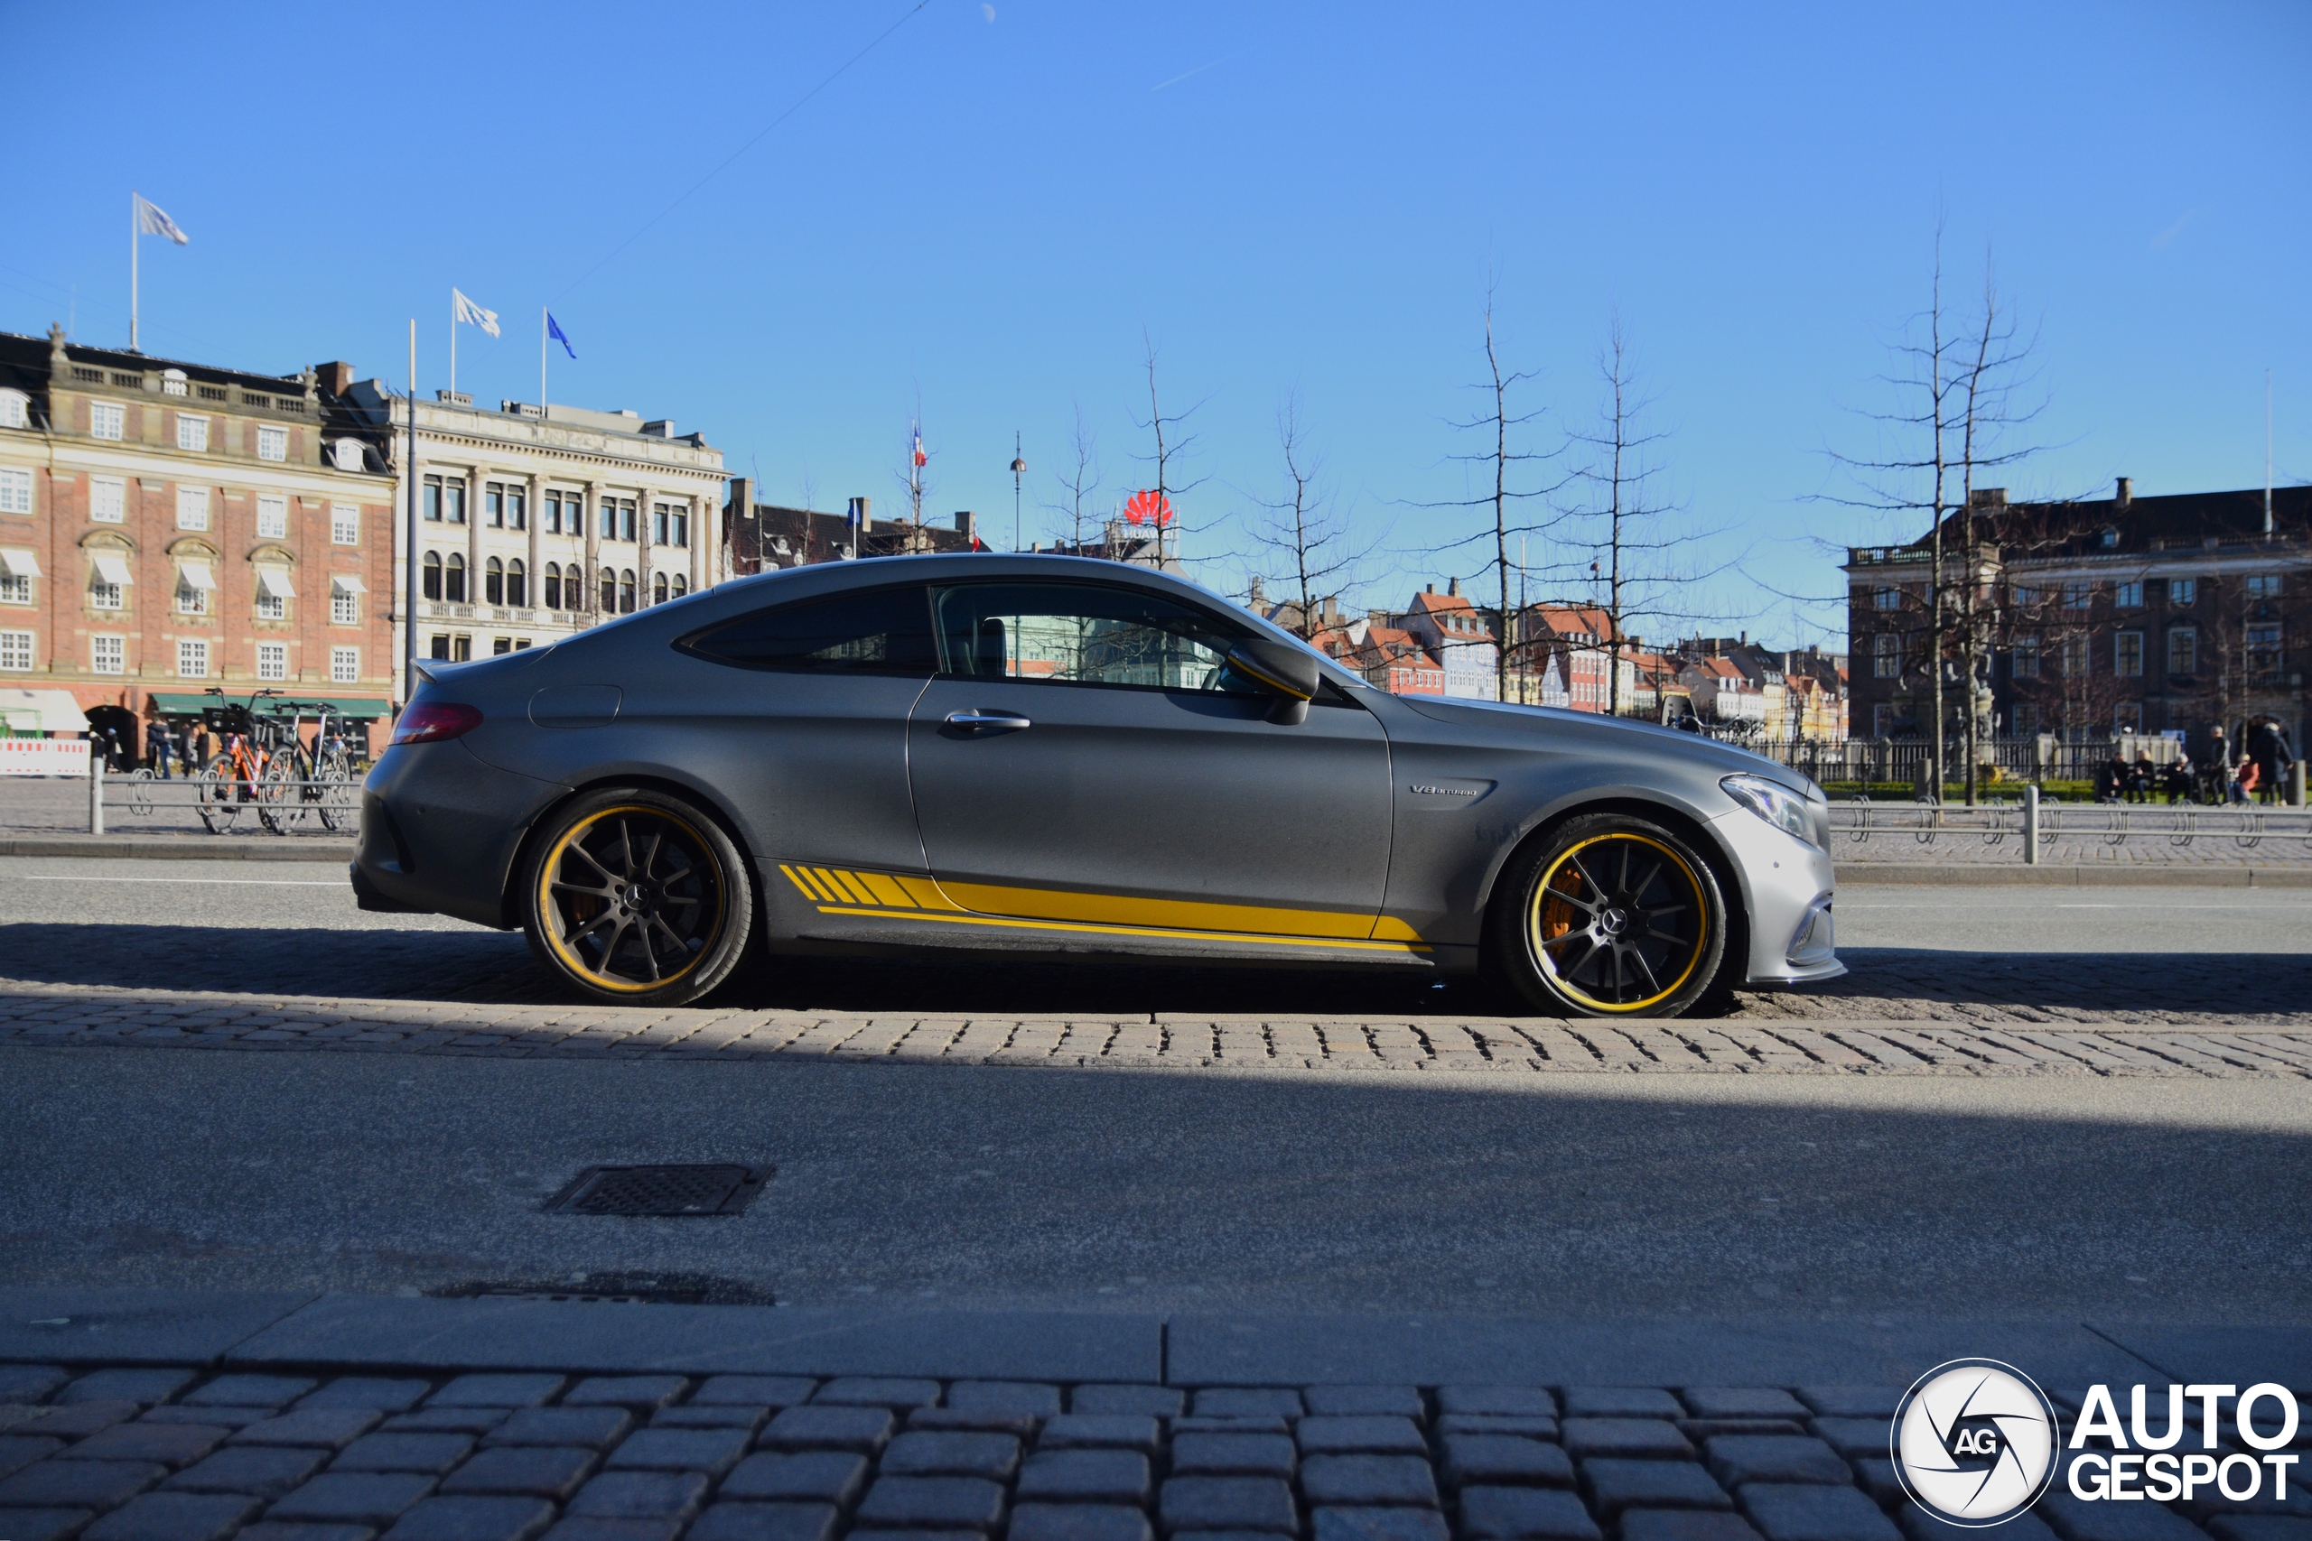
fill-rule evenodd
<path id="1" fill-rule="evenodd" d="M 1618 312 L 1653 397 L 1672 608 L 1833 642 L 1822 543 L 1917 534 L 1824 501 L 1926 303 L 1986 250 L 2037 328 L 2048 446 L 2016 497 L 2312 478 L 2312 7 L 883 5 L 79 7 L 9 2 L 0 328 L 261 372 L 446 372 L 449 289 L 499 310 L 458 384 L 703 430 L 765 494 L 1050 538 L 1077 407 L 1101 499 L 1149 481 L 1142 337 L 1195 404 L 1188 554 L 1258 561 L 1279 404 L 1378 543 L 1357 603 L 1480 571 L 1463 497 L 1482 310 L 1554 451 Z M 897 30 L 795 102 L 885 28 Z M 691 189 L 781 113 L 735 162 Z M 673 206 L 673 208 L 670 208 Z M 1556 478 L 1568 462 L 1537 462 Z M 1574 497 L 1570 487 L 1565 497 Z M 1535 515 L 1537 518 L 1537 508 Z M 1570 529 L 1561 529 L 1561 536 Z M 1535 541 L 1531 564 L 1586 566 Z M 1477 580 L 1491 589 L 1491 578 Z M 1535 580 L 1535 591 L 1579 585 Z M 1662 628 L 1667 621 L 1653 628 Z"/>

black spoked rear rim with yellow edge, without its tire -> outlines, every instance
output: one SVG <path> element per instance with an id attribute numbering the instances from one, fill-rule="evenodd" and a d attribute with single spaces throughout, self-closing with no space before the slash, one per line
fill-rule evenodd
<path id="1" fill-rule="evenodd" d="M 627 871 L 613 871 L 603 857 L 587 850 L 587 836 L 601 832 L 610 820 L 624 820 L 620 832 L 620 864 Z M 643 820 L 657 825 L 657 829 L 640 832 L 650 839 L 650 843 L 636 853 L 636 825 Z M 652 869 L 659 866 L 659 857 L 664 855 L 666 832 L 680 832 L 691 848 L 689 853 L 680 853 L 687 864 L 675 876 L 677 883 L 696 873 L 705 873 L 705 894 L 698 899 L 680 896 L 668 908 L 696 903 L 710 906 L 710 913 L 680 929 L 659 913 L 659 894 L 673 885 L 659 883 L 652 876 Z M 571 862 L 573 855 L 578 866 L 573 866 L 566 878 L 564 862 Z M 640 873 L 633 871 L 636 855 L 640 855 Z M 640 910 L 613 913 L 622 908 L 620 887 L 633 887 L 636 878 L 640 878 L 647 889 L 643 894 Z M 721 938 L 728 903 L 724 894 L 721 864 L 714 859 L 714 848 L 705 843 L 698 829 L 666 809 L 645 809 L 633 804 L 590 813 L 562 832 L 562 836 L 546 853 L 546 859 L 539 864 L 536 913 L 539 933 L 546 938 L 546 945 L 564 968 L 594 989 L 640 996 L 675 984 L 705 961 L 705 956 L 714 950 L 714 943 Z M 652 920 L 659 924 L 652 926 Z M 606 926 L 608 938 L 601 945 L 601 959 L 587 961 L 580 956 L 580 945 L 590 938 L 601 938 Z M 645 966 L 654 966 L 654 959 L 664 947 L 668 952 L 668 961 L 673 961 L 673 954 L 680 952 L 680 968 L 668 968 L 643 980 L 613 973 L 613 966 L 620 961 L 620 947 L 629 936 L 636 936 L 636 945 L 629 952 L 640 952 Z M 691 940 L 696 940 L 696 947 L 689 945 Z"/>

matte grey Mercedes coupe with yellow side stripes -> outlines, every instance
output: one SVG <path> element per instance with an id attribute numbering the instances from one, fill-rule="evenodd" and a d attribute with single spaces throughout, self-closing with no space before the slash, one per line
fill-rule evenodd
<path id="1" fill-rule="evenodd" d="M 1845 973 L 1806 776 L 1387 695 L 1147 568 L 791 568 L 421 675 L 361 906 L 520 926 L 596 1000 L 696 1000 L 749 947 L 1487 970 L 1588 1017 Z"/>

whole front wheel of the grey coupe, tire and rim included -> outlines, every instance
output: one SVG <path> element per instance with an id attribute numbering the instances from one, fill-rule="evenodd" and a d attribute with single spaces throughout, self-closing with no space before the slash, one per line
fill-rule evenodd
<path id="1" fill-rule="evenodd" d="M 1572 818 L 1503 871 L 1487 959 L 1556 1017 L 1679 1017 L 1718 980 L 1725 896 L 1692 846 L 1628 813 Z"/>

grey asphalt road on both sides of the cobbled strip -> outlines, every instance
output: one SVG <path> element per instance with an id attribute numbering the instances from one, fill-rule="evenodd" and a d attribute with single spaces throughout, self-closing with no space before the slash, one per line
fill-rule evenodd
<path id="1" fill-rule="evenodd" d="M 127 940 L 150 931 L 252 973 L 317 938 L 375 943 L 407 968 L 430 950 L 509 943 L 365 917 L 338 883 L 305 866 L 21 859 L 0 864 L 0 938 L 92 947 L 72 959 L 90 982 L 132 973 Z M 2307 920 L 2300 889 L 1840 899 L 1859 956 L 2300 959 Z M 106 943 L 106 929 L 125 931 Z M 55 961 L 16 947 L 18 963 Z M 2312 1215 L 2289 1197 L 2312 1167 L 2300 1081 L 132 1049 L 0 1049 L 0 1282 L 414 1291 L 687 1273 L 793 1303 L 2201 1322 L 2312 1310 Z M 659 1160 L 777 1176 L 735 1220 L 539 1213 L 580 1167 Z"/>

